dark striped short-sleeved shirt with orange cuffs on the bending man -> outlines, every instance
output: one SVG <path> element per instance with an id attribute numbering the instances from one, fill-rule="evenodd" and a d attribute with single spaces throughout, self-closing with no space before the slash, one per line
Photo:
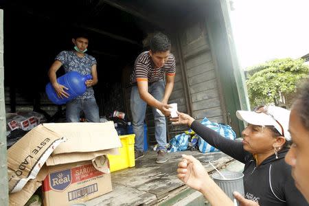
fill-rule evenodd
<path id="1" fill-rule="evenodd" d="M 130 83 L 135 84 L 139 81 L 156 82 L 163 79 L 164 73 L 168 76 L 174 76 L 176 73 L 176 64 L 174 55 L 170 54 L 165 65 L 156 68 L 149 52 L 139 54 L 135 60 L 133 73 L 130 76 Z"/>

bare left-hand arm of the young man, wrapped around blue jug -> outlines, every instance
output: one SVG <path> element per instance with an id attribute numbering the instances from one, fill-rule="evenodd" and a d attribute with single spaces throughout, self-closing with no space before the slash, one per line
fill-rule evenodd
<path id="1" fill-rule="evenodd" d="M 69 94 L 65 91 L 65 89 L 68 90 L 67 87 L 61 84 L 58 84 L 57 82 L 56 71 L 58 71 L 58 69 L 60 69 L 61 66 L 62 66 L 62 62 L 60 62 L 60 60 L 55 60 L 52 66 L 49 68 L 48 76 L 49 76 L 49 80 L 52 86 L 54 87 L 58 95 L 58 98 L 63 98 L 63 97 L 68 98 Z"/>

